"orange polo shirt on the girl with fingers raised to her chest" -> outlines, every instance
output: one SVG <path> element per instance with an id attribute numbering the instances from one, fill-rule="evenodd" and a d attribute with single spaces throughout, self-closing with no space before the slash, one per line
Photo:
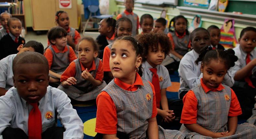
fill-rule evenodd
<path id="1" fill-rule="evenodd" d="M 86 68 L 83 66 L 81 62 L 80 62 L 80 65 L 81 65 L 81 72 L 86 70 Z M 92 61 L 91 68 L 88 69 L 88 71 L 90 72 L 92 70 L 96 70 L 96 65 L 94 60 Z M 69 77 L 75 77 L 75 76 L 76 76 L 76 63 L 73 61 L 69 64 L 67 69 L 62 73 L 60 81 L 67 80 Z M 102 62 L 101 60 L 99 60 L 99 66 L 98 66 L 98 70 L 96 71 L 95 80 L 102 81 L 102 79 L 103 79 L 103 68 L 102 68 Z"/>

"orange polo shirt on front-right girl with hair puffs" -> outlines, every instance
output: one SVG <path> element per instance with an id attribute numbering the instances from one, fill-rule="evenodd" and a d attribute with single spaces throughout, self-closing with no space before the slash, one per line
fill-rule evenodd
<path id="1" fill-rule="evenodd" d="M 205 93 L 208 91 L 221 91 L 225 89 L 221 84 L 214 89 L 208 88 L 204 81 L 201 78 L 201 85 L 204 89 Z M 231 104 L 228 112 L 228 116 L 238 116 L 242 114 L 242 110 L 240 104 L 238 102 L 237 96 L 235 92 L 231 89 Z M 197 99 L 192 90 L 188 91 L 188 93 L 183 97 L 183 109 L 181 113 L 180 123 L 185 124 L 193 124 L 197 123 Z"/>

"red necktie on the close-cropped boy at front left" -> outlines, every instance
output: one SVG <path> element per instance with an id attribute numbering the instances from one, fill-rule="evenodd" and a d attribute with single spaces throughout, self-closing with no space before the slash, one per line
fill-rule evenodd
<path id="1" fill-rule="evenodd" d="M 29 103 L 33 109 L 29 112 L 29 139 L 41 139 L 42 118 L 37 103 Z"/>

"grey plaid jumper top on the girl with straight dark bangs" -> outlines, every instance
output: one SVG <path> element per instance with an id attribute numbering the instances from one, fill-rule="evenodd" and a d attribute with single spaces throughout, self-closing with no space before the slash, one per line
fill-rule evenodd
<path id="1" fill-rule="evenodd" d="M 65 53 L 55 53 L 55 51 L 52 48 L 52 45 L 50 45 L 48 48 L 52 51 L 52 66 L 51 69 L 53 72 L 62 74 L 66 68 L 69 65 L 69 46 L 67 47 L 68 51 Z M 50 75 L 51 77 L 55 78 L 54 76 Z"/>

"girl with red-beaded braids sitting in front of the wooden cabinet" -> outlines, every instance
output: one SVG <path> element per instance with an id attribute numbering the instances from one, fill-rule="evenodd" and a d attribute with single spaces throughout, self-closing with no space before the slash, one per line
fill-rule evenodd
<path id="1" fill-rule="evenodd" d="M 81 38 L 78 31 L 75 28 L 69 27 L 69 17 L 65 11 L 57 11 L 55 14 L 55 24 L 63 27 L 67 31 L 67 45 L 71 46 L 73 50 L 76 50 L 76 45 Z M 48 40 L 48 46 L 50 41 Z"/>

